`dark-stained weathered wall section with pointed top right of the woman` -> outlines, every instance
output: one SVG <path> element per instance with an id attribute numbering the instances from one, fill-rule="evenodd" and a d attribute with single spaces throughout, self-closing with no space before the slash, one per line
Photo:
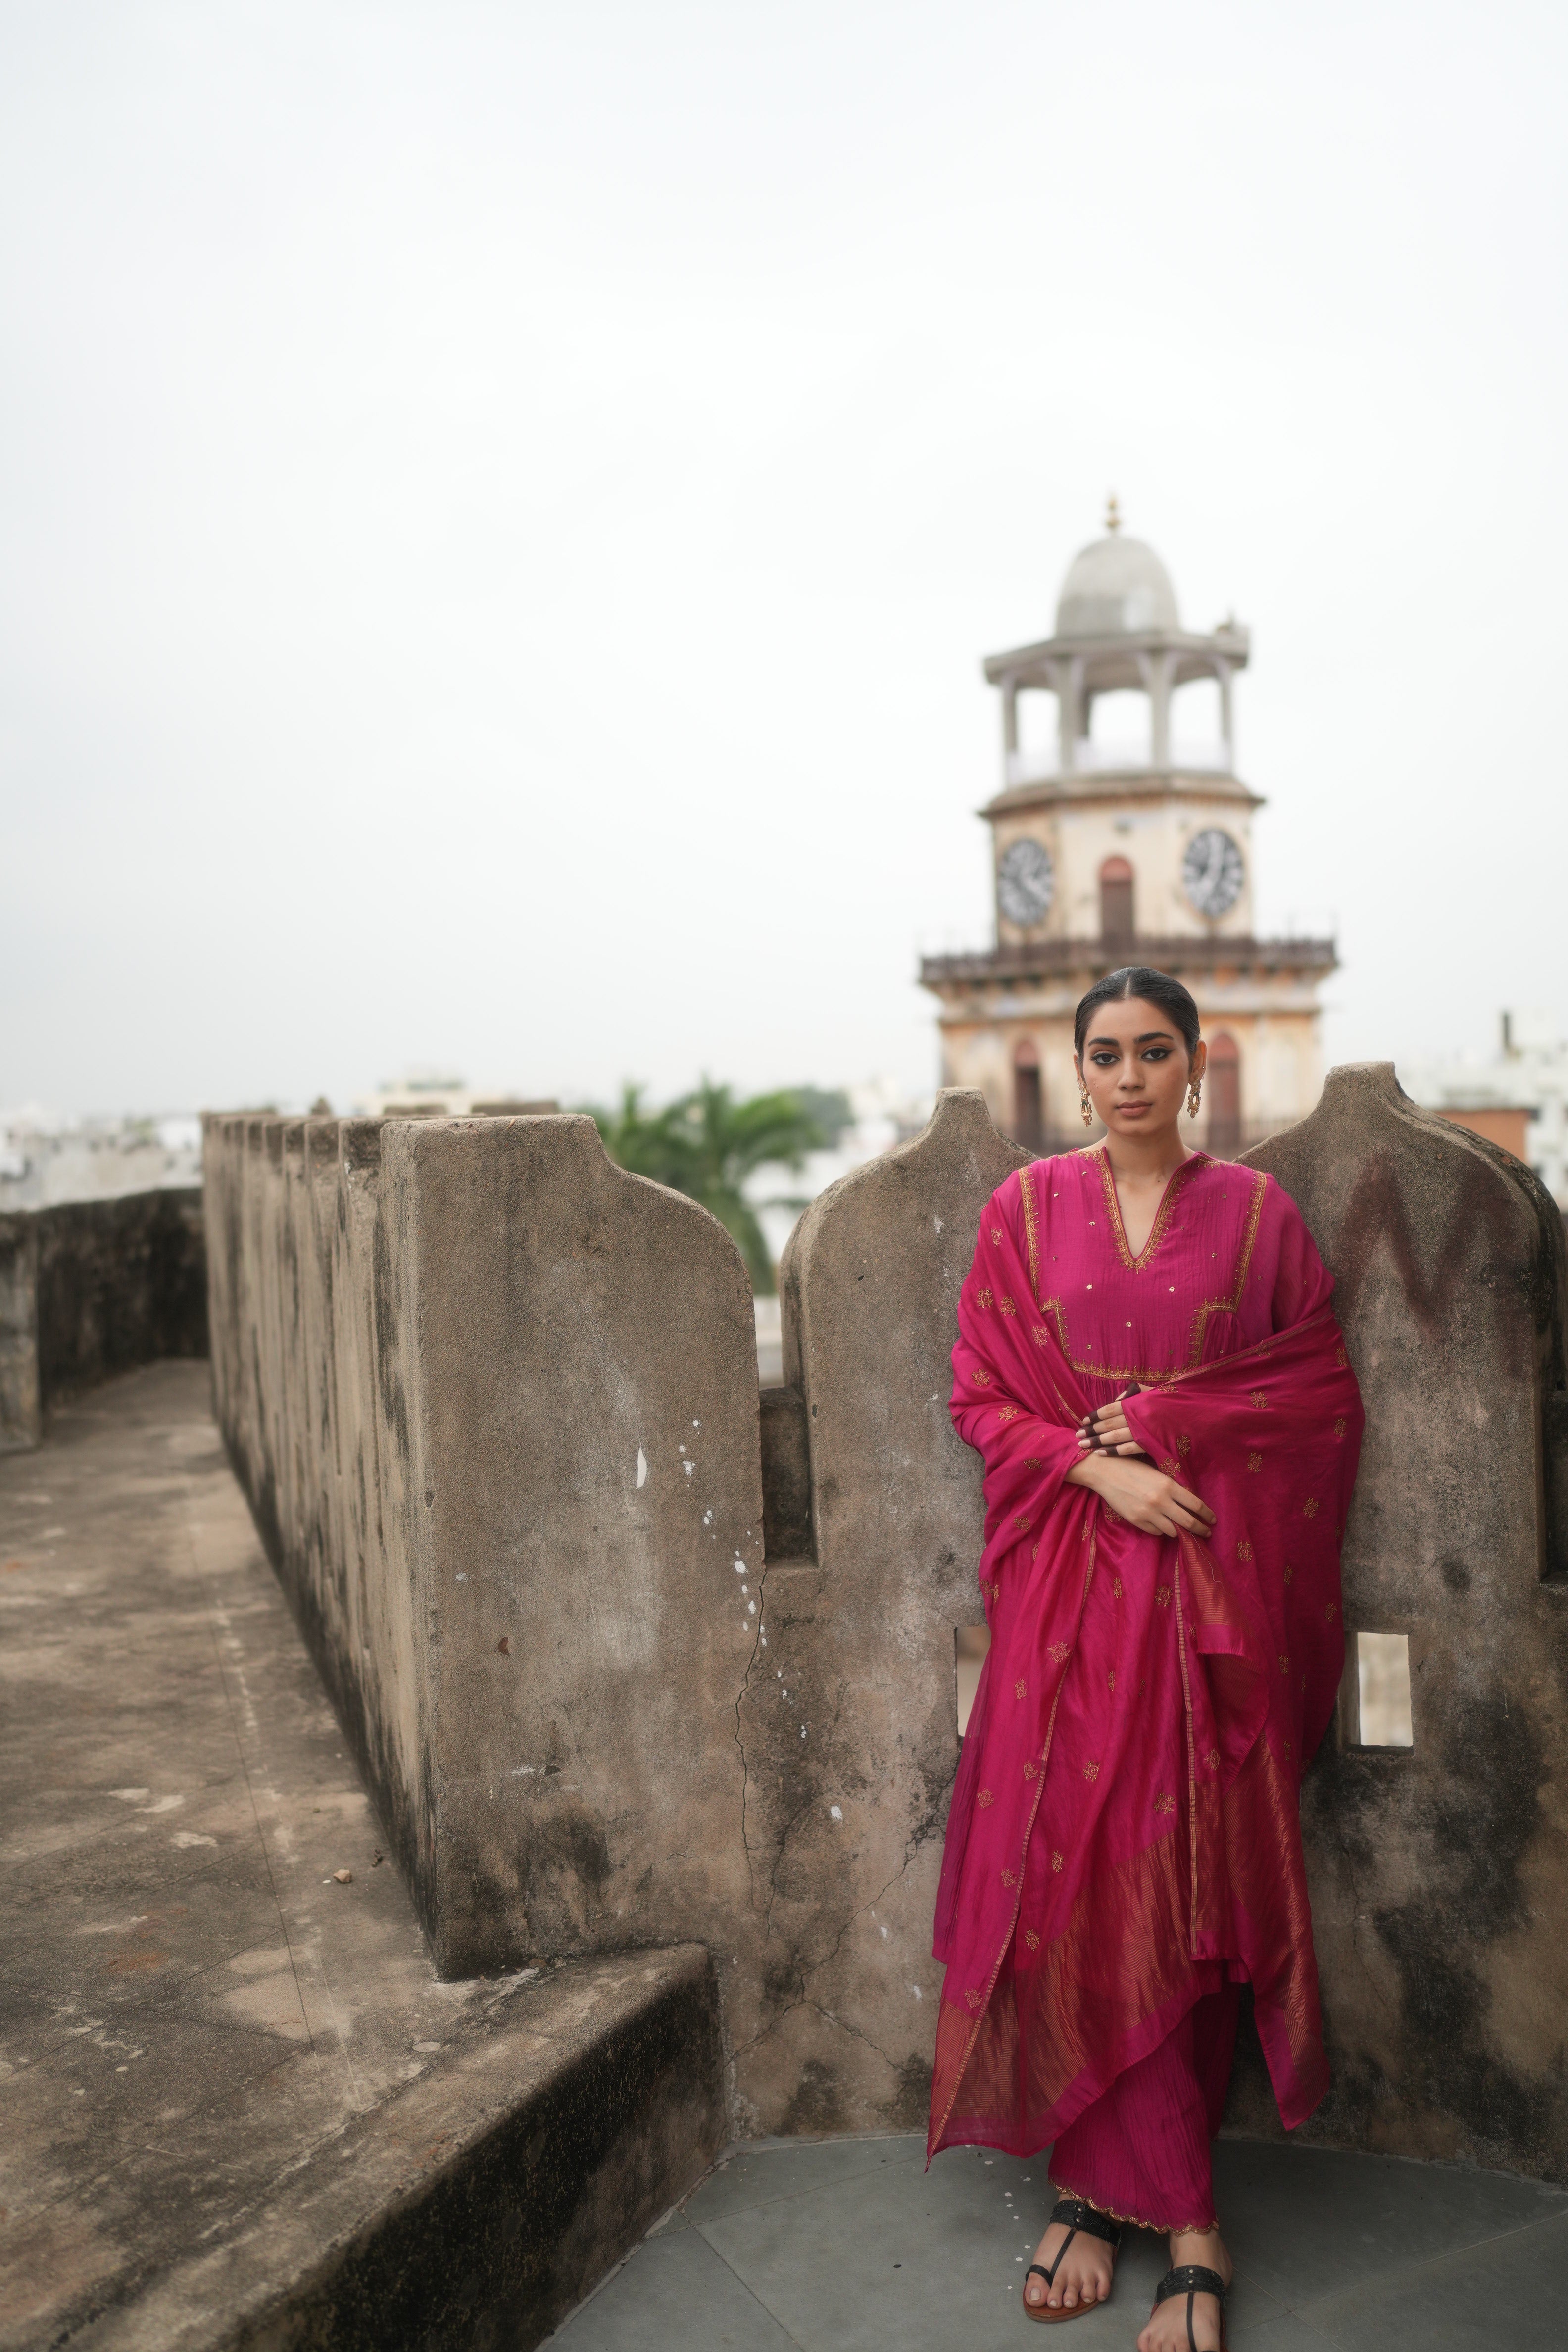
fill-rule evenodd
<path id="1" fill-rule="evenodd" d="M 1307 2133 L 1568 2180 L 1561 1216 L 1389 1063 L 1248 1157 L 1335 1275 L 1366 1397 L 1347 1632 L 1410 1642 L 1415 1745 L 1331 1733 L 1305 1785 L 1333 2060 Z M 1255 2060 L 1232 2112 L 1272 2124 Z"/>

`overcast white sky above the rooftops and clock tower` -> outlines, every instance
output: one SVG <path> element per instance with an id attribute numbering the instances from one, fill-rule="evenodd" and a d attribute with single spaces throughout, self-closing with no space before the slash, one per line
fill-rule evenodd
<path id="1" fill-rule="evenodd" d="M 0 0 L 0 1101 L 936 1077 L 1105 492 L 1333 1058 L 1568 1028 L 1568 12 Z"/>

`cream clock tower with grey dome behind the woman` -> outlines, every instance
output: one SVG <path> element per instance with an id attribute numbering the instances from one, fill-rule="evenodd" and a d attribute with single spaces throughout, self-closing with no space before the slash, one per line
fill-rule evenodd
<path id="1" fill-rule="evenodd" d="M 1157 964 L 1197 997 L 1208 1080 L 1185 1127 L 1194 1143 L 1239 1152 L 1319 1096 L 1316 990 L 1335 950 L 1253 934 L 1262 802 L 1237 776 L 1232 724 L 1248 656 L 1237 621 L 1180 626 L 1171 574 L 1121 532 L 1112 499 L 1105 536 L 1067 569 L 1056 633 L 985 663 L 1004 741 L 1001 790 L 980 811 L 997 943 L 931 955 L 919 976 L 943 1007 L 943 1084 L 978 1087 L 1025 1148 L 1088 1141 L 1072 1014 L 1119 964 Z M 1206 734 L 1185 724 L 1199 699 Z M 1044 731 L 1030 724 L 1041 708 Z"/>

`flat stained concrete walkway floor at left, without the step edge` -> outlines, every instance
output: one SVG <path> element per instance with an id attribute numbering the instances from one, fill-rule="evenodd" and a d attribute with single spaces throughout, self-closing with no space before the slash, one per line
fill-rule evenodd
<path id="1" fill-rule="evenodd" d="M 0 1458 L 0 2347 L 188 2260 L 517 1987 L 425 1957 L 207 1364 Z"/>

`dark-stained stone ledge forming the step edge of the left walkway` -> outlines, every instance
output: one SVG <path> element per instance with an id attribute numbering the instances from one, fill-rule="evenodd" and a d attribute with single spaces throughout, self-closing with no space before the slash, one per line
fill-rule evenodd
<path id="1" fill-rule="evenodd" d="M 564 1962 L 136 2300 L 92 2352 L 529 2352 L 726 2138 L 701 1945 Z"/>

